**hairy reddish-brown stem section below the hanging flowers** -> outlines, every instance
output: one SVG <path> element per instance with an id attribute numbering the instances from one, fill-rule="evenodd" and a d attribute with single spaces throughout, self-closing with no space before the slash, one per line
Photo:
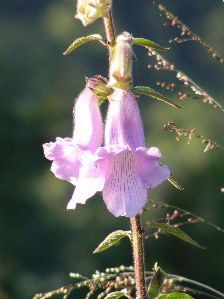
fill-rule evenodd
<path id="1" fill-rule="evenodd" d="M 139 214 L 137 214 L 135 217 L 131 217 L 131 230 L 136 280 L 136 295 L 139 299 L 146 299 L 142 229 Z"/>

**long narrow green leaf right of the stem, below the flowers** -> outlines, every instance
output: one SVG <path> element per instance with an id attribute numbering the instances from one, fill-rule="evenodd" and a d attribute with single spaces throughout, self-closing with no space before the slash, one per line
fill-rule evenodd
<path id="1" fill-rule="evenodd" d="M 181 229 L 179 229 L 178 227 L 175 227 L 173 225 L 159 223 L 159 222 L 152 222 L 146 227 L 145 231 L 150 227 L 159 228 L 160 230 L 165 231 L 166 233 L 169 233 L 171 235 L 174 235 L 174 236 L 184 240 L 185 242 L 188 242 L 188 243 L 190 243 L 194 246 L 197 246 L 199 248 L 206 249 L 205 247 L 199 245 L 197 242 L 195 242 L 190 237 L 188 237 L 188 235 L 185 234 L 185 232 L 183 232 Z"/>

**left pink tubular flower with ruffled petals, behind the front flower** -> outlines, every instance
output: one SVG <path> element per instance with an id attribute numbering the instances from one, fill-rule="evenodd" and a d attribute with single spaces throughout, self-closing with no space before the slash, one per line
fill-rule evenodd
<path id="1" fill-rule="evenodd" d="M 80 154 L 93 154 L 102 142 L 103 124 L 98 100 L 98 96 L 86 87 L 75 103 L 73 138 L 57 137 L 56 142 L 43 145 L 45 157 L 53 161 L 51 171 L 57 178 L 69 181 L 76 188 L 79 182 L 85 184 L 82 196 L 76 196 L 76 189 L 73 194 L 80 203 L 85 203 L 83 196 L 91 197 L 98 191 L 99 180 L 82 178 L 83 165 L 79 161 Z"/>

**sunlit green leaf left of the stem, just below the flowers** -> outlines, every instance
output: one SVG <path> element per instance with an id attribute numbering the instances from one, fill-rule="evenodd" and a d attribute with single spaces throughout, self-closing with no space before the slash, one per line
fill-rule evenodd
<path id="1" fill-rule="evenodd" d="M 98 253 L 110 248 L 113 245 L 118 245 L 117 243 L 119 243 L 120 240 L 126 236 L 131 239 L 131 231 L 113 231 L 113 233 L 109 234 L 106 239 L 99 244 L 93 253 Z"/>

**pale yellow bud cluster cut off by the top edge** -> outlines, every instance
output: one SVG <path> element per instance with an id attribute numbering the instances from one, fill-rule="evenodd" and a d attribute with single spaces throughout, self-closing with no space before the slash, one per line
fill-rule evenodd
<path id="1" fill-rule="evenodd" d="M 107 18 L 110 5 L 110 0 L 78 0 L 75 18 L 87 26 L 100 17 Z"/>

